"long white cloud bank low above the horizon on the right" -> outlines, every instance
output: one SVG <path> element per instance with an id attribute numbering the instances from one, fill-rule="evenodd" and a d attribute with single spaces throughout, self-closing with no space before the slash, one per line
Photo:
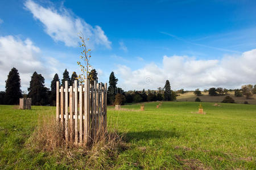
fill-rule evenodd
<path id="1" fill-rule="evenodd" d="M 115 73 L 122 80 L 119 86 L 125 90 L 156 89 L 163 87 L 167 79 L 176 90 L 237 88 L 242 84 L 256 84 L 256 49 L 244 52 L 240 56 L 224 56 L 220 60 L 163 56 L 160 66 L 150 63 L 132 71 L 127 66 L 119 65 Z"/>

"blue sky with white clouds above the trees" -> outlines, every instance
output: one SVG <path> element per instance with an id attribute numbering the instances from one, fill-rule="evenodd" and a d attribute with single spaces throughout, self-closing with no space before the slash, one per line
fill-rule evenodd
<path id="1" fill-rule="evenodd" d="M 0 91 L 12 67 L 27 91 L 36 71 L 80 74 L 79 33 L 100 82 L 204 90 L 256 84 L 256 1 L 0 1 Z"/>

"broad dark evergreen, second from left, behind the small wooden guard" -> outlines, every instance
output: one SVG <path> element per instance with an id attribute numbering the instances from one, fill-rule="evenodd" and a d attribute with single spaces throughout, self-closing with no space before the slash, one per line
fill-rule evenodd
<path id="1" fill-rule="evenodd" d="M 44 78 L 41 74 L 34 72 L 31 76 L 28 97 L 32 100 L 32 105 L 46 105 L 48 102 L 48 88 L 44 87 Z"/>

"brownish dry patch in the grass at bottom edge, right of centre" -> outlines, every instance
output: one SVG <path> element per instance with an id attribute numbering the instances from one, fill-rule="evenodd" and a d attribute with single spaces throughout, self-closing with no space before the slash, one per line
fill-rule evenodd
<path id="1" fill-rule="evenodd" d="M 184 165 L 183 169 L 195 169 L 195 170 L 204 170 L 204 169 L 212 169 L 212 167 L 205 167 L 200 160 L 197 159 L 181 159 L 180 156 L 175 155 L 176 160 L 178 160 L 181 164 Z"/>

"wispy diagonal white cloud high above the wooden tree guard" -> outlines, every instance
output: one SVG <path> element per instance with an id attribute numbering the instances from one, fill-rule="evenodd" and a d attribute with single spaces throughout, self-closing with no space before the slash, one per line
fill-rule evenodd
<path id="1" fill-rule="evenodd" d="M 62 41 L 67 46 L 78 46 L 78 33 L 82 32 L 86 38 L 89 38 L 89 48 L 94 48 L 94 45 L 104 45 L 106 48 L 111 48 L 111 43 L 104 31 L 96 25 L 86 23 L 83 19 L 73 16 L 65 8 L 57 11 L 53 7 L 45 8 L 28 0 L 24 6 L 29 10 L 35 19 L 40 20 L 44 25 L 44 31 L 55 41 Z"/>

